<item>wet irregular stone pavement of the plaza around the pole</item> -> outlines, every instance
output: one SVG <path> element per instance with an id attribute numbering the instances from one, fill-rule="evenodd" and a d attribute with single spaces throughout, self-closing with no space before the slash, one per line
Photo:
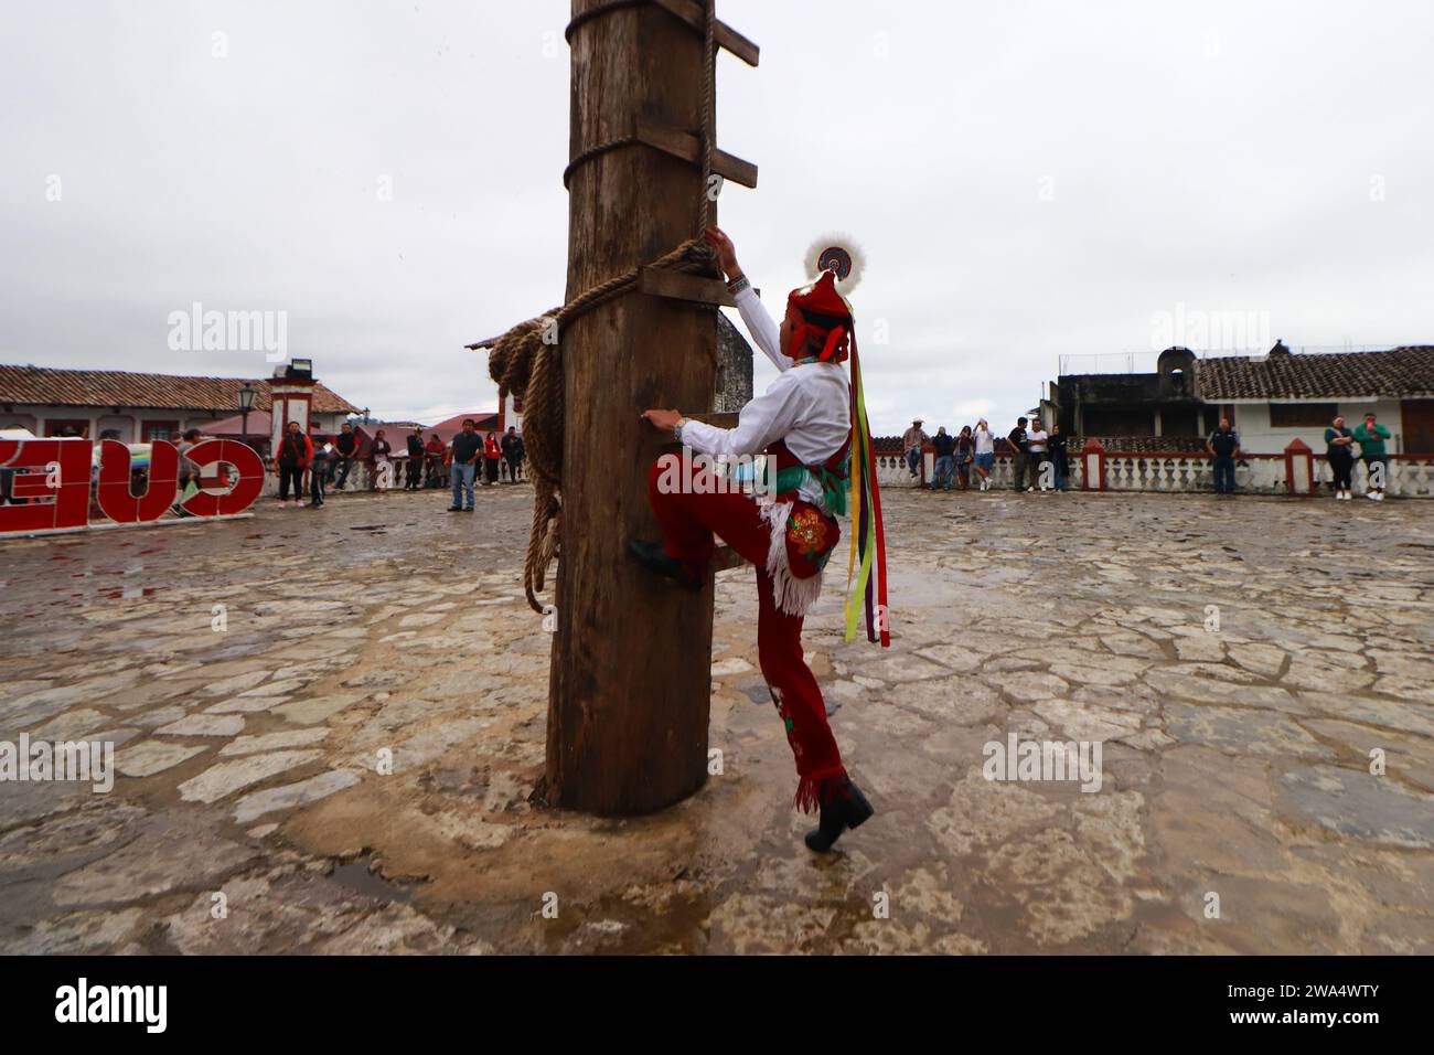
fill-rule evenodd
<path id="1" fill-rule="evenodd" d="M 1434 502 L 888 492 L 893 647 L 807 624 L 878 814 L 815 858 L 750 568 L 724 772 L 529 804 L 531 492 L 479 498 L 0 543 L 0 741 L 120 774 L 0 784 L 0 952 L 1434 952 Z M 984 779 L 1011 733 L 1100 789 Z"/>

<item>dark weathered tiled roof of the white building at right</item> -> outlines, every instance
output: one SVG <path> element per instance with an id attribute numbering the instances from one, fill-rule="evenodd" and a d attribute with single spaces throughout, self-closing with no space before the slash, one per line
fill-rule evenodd
<path id="1" fill-rule="evenodd" d="M 1222 399 L 1338 399 L 1434 396 L 1434 346 L 1334 355 L 1230 356 L 1195 365 L 1196 390 Z"/>

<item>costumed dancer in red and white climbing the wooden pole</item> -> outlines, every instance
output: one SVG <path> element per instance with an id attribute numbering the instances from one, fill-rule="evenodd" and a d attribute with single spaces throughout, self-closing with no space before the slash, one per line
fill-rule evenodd
<path id="1" fill-rule="evenodd" d="M 853 421 L 865 421 L 865 406 L 853 400 L 842 369 L 849 350 L 855 352 L 855 340 L 852 310 L 836 291 L 836 278 L 850 274 L 852 257 L 840 247 L 825 250 L 820 277 L 792 291 L 779 327 L 751 291 L 731 240 L 717 228 L 710 228 L 706 240 L 728 278 L 743 323 L 780 375 L 741 409 L 733 429 L 688 421 L 678 411 L 651 409 L 642 415 L 655 428 L 670 429 L 684 451 L 681 456 L 660 458 L 648 478 L 663 543 L 632 540 L 628 551 L 651 571 L 697 590 L 707 580 L 714 534 L 756 566 L 761 673 L 796 758 L 796 804 L 822 812 L 806 844 L 826 853 L 843 831 L 873 814 L 846 772 L 822 689 L 802 655 L 806 611 L 820 593 L 822 568 L 840 535 L 836 517 L 846 512 L 853 446 L 859 446 L 862 461 L 860 452 L 870 451 L 865 428 L 853 429 Z M 829 253 L 835 253 L 832 270 L 826 268 Z M 853 376 L 859 376 L 855 357 Z M 723 487 L 727 481 L 708 468 L 680 466 L 680 459 L 693 452 L 766 452 L 767 481 L 773 481 L 776 469 L 776 501 L 759 502 L 754 495 Z M 863 521 L 863 535 L 868 524 L 879 537 L 879 520 Z M 885 568 L 880 576 L 885 580 Z M 885 642 L 885 626 L 882 630 Z"/>

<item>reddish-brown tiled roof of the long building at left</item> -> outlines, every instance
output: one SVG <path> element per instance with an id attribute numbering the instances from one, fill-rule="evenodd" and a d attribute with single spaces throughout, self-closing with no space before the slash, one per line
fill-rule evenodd
<path id="1" fill-rule="evenodd" d="M 228 411 L 239 406 L 239 389 L 252 385 L 255 411 L 270 409 L 267 378 L 179 378 L 128 370 L 56 370 L 46 366 L 0 366 L 0 403 L 59 406 L 136 406 L 184 411 Z M 348 413 L 360 408 L 314 385 L 317 413 Z"/>

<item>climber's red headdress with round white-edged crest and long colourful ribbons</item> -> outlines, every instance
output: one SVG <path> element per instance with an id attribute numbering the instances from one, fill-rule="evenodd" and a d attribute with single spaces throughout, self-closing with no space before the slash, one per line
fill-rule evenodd
<path id="1" fill-rule="evenodd" d="M 862 277 L 865 257 L 850 238 L 823 235 L 807 251 L 807 277 L 816 281 L 793 290 L 789 303 L 803 314 L 793 349 L 806 347 L 810 337 L 822 340 L 822 362 L 852 360 L 852 551 L 846 563 L 846 640 L 856 637 L 858 609 L 866 610 L 866 639 L 891 647 L 891 617 L 886 607 L 886 534 L 882 528 L 882 494 L 876 484 L 876 451 L 866 421 L 862 362 L 856 353 L 852 304 L 837 293 L 850 293 Z"/>

